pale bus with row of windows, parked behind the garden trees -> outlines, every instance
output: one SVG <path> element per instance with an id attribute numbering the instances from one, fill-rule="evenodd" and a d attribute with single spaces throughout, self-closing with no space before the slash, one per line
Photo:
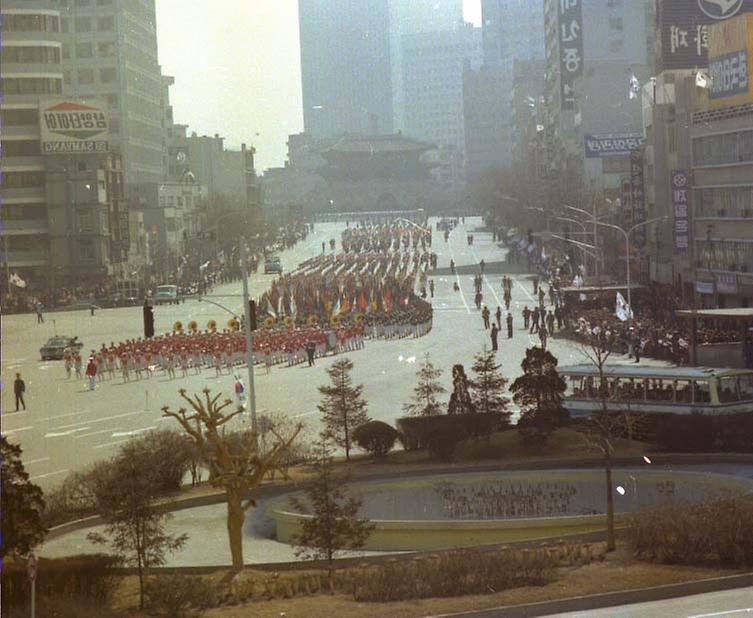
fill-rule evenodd
<path id="1" fill-rule="evenodd" d="M 572 417 L 602 409 L 659 414 L 753 413 L 753 370 L 606 365 L 603 384 L 593 364 L 559 368 Z"/>

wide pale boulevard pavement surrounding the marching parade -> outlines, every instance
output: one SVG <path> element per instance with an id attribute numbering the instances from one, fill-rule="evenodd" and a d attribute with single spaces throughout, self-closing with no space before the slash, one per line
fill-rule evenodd
<path id="1" fill-rule="evenodd" d="M 491 240 L 491 234 L 475 231 L 473 247 L 466 243 L 466 232 L 474 230 L 479 220 L 456 228 L 445 243 L 435 233 L 433 250 L 439 257 L 439 267 L 446 268 L 450 259 L 458 266 L 472 266 L 481 259 L 487 264 L 504 259 L 504 249 Z M 342 224 L 317 224 L 316 232 L 306 241 L 282 254 L 283 265 L 291 270 L 295 264 L 321 252 L 322 241 L 338 239 Z M 498 271 L 499 268 L 495 268 Z M 474 268 L 465 268 L 468 274 L 438 274 L 434 277 L 436 296 L 430 299 L 435 309 L 434 328 L 419 339 L 394 341 L 368 341 L 365 350 L 353 352 L 350 357 L 355 368 L 356 383 L 364 384 L 364 395 L 370 402 L 369 414 L 378 420 L 394 421 L 402 415 L 402 404 L 407 401 L 415 385 L 415 372 L 425 353 L 444 370 L 442 381 L 449 389 L 450 369 L 453 363 L 468 367 L 473 355 L 484 345 L 490 346 L 488 331 L 484 331 L 479 313 L 473 306 Z M 442 272 L 441 270 L 439 272 Z M 524 305 L 532 306 L 530 280 L 525 275 L 514 275 L 513 303 L 515 334 L 512 340 L 500 336 L 498 360 L 503 373 L 514 379 L 520 374 L 520 361 L 525 349 L 538 344 L 536 336 L 522 329 L 520 312 Z M 271 276 L 256 274 L 251 277 L 251 293 L 260 295 L 268 288 Z M 453 291 L 454 282 L 460 292 Z M 215 294 L 217 302 L 240 308 L 240 282 L 222 286 Z M 501 275 L 489 274 L 484 278 L 484 301 L 492 312 L 501 304 Z M 232 296 L 236 295 L 236 296 Z M 220 309 L 187 301 L 179 306 L 155 308 L 155 328 L 165 332 L 180 319 L 187 323 L 195 319 L 202 326 L 215 319 L 224 324 L 228 315 Z M 120 341 L 142 334 L 140 307 L 107 309 L 90 316 L 87 310 L 48 314 L 43 325 L 36 324 L 34 315 L 12 315 L 3 318 L 3 384 L 10 385 L 13 374 L 20 371 L 26 380 L 28 411 L 9 413 L 12 410 L 12 389 L 3 388 L 3 431 L 10 439 L 20 442 L 24 449 L 24 462 L 33 480 L 43 487 L 55 485 L 72 470 L 112 455 L 118 446 L 132 436 L 153 428 L 171 426 L 172 421 L 161 417 L 161 406 L 179 403 L 177 390 L 188 392 L 205 387 L 232 393 L 232 378 L 216 378 L 213 370 L 201 375 L 167 380 L 161 376 L 140 382 L 123 384 L 116 377 L 105 381 L 95 392 L 88 392 L 82 382 L 67 380 L 61 361 L 39 360 L 38 349 L 55 330 L 60 334 L 76 334 L 85 344 L 84 350 L 99 347 L 101 343 Z M 503 333 L 506 331 L 503 330 Z M 550 349 L 560 364 L 579 362 L 582 354 L 568 341 L 551 341 Z M 327 380 L 325 370 L 332 357 L 317 362 L 316 367 L 275 367 L 270 375 L 261 369 L 256 372 L 257 405 L 260 411 L 280 411 L 291 417 L 310 421 L 312 431 L 318 431 L 316 403 L 317 386 Z"/>

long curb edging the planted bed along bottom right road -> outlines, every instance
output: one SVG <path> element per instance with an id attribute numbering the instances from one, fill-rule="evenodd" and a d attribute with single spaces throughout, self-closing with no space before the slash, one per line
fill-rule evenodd
<path id="1" fill-rule="evenodd" d="M 662 601 L 718 592 L 733 590 L 735 588 L 747 588 L 753 586 L 753 573 L 729 575 L 713 579 L 701 579 L 679 584 L 666 584 L 652 588 L 638 588 L 619 592 L 606 592 L 582 597 L 571 597 L 554 601 L 542 601 L 539 603 L 526 603 L 521 605 L 508 605 L 493 607 L 490 609 L 472 610 L 454 614 L 437 614 L 431 618 L 531 618 L 533 616 L 550 616 L 564 612 L 582 612 L 604 607 L 616 607 L 619 605 L 634 605 L 651 601 Z"/>

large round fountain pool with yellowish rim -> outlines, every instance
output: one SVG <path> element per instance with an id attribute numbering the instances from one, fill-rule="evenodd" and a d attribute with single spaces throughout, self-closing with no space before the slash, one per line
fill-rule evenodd
<path id="1" fill-rule="evenodd" d="M 722 491 L 751 493 L 753 479 L 661 469 L 613 471 L 618 524 L 629 513 L 673 501 L 698 501 Z M 496 471 L 351 483 L 361 515 L 375 525 L 365 549 L 380 551 L 469 547 L 602 530 L 603 470 Z M 266 512 L 278 541 L 292 542 L 310 517 L 293 494 L 271 500 Z M 303 500 L 303 496 L 298 496 Z"/>

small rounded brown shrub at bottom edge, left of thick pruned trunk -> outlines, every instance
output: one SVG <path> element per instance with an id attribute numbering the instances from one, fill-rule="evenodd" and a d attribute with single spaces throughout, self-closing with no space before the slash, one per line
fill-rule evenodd
<path id="1" fill-rule="evenodd" d="M 202 577 L 160 575 L 151 577 L 145 588 L 147 605 L 168 618 L 197 616 L 217 604 L 217 592 Z"/>

